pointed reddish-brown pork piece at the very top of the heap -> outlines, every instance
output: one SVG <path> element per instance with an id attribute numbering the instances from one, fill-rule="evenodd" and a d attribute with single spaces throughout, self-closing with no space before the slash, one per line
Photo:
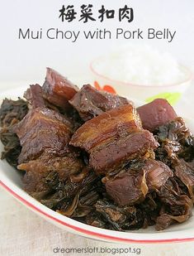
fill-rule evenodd
<path id="1" fill-rule="evenodd" d="M 69 100 L 78 92 L 78 87 L 55 70 L 47 68 L 45 83 L 42 86 L 43 96 L 50 104 L 61 109 L 69 109 Z"/>

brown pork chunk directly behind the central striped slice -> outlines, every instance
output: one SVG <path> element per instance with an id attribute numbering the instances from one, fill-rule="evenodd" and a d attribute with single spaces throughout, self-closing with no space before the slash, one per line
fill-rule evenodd
<path id="1" fill-rule="evenodd" d="M 91 85 L 83 85 L 83 88 L 69 101 L 73 108 L 78 110 L 83 121 L 102 114 L 110 109 L 118 108 L 125 104 L 131 104 L 128 99 L 118 95 L 98 91 Z"/>

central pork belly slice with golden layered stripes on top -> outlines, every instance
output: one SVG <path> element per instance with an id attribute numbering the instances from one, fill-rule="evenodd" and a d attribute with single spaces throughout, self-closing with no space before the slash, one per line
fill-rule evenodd
<path id="1" fill-rule="evenodd" d="M 111 109 L 87 121 L 73 134 L 70 144 L 85 149 L 91 167 L 104 174 L 130 160 L 154 157 L 159 146 L 153 134 L 141 127 L 133 105 Z"/>

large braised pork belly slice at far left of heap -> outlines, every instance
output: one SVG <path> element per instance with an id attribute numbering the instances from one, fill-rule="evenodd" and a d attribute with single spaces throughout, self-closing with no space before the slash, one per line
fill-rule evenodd
<path id="1" fill-rule="evenodd" d="M 51 171 L 65 180 L 82 170 L 78 152 L 69 147 L 71 123 L 61 114 L 46 108 L 32 109 L 14 130 L 21 142 L 18 169 L 26 171 L 28 185 L 32 181 L 35 191 L 44 186 L 44 178 Z"/>

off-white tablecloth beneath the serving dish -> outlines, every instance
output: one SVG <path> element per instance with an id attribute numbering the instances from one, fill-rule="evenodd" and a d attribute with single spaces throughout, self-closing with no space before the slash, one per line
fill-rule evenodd
<path id="1" fill-rule="evenodd" d="M 194 117 L 193 97 L 194 88 L 187 92 L 177 105 L 178 113 L 187 117 Z M 126 244 L 110 244 L 102 241 L 86 239 L 70 234 L 62 229 L 42 220 L 31 210 L 26 209 L 12 196 L 0 189 L 0 255 L 54 255 L 55 248 L 129 248 Z M 140 255 L 193 255 L 194 242 L 187 244 L 130 244 L 131 248 L 140 249 Z M 57 254 L 58 255 L 58 254 Z M 60 254 L 62 255 L 62 254 Z M 64 255 L 91 255 L 91 254 L 64 254 Z M 113 255 L 113 254 L 93 254 Z M 118 255 L 118 254 L 116 254 Z M 122 254 L 125 255 L 125 254 Z M 129 254 L 128 254 L 129 255 Z M 131 254 L 136 255 L 136 254 Z"/>

